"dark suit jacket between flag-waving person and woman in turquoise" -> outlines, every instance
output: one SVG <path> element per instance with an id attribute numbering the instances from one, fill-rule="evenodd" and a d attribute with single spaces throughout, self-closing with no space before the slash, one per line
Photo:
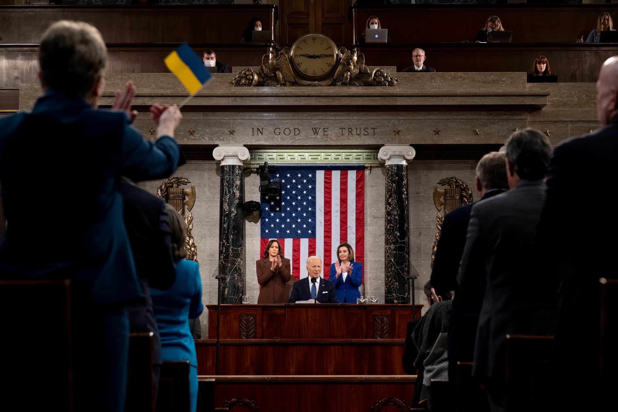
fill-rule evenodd
<path id="1" fill-rule="evenodd" d="M 171 229 L 165 202 L 123 177 L 119 186 L 124 203 L 124 225 L 133 250 L 143 300 L 129 306 L 131 332 L 153 332 L 153 363 L 161 363 L 161 337 L 150 287 L 169 289 L 176 279 Z"/>

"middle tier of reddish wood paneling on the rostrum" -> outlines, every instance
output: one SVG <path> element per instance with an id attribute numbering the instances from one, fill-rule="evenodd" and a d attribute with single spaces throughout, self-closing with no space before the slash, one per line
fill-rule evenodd
<path id="1" fill-rule="evenodd" d="M 223 375 L 399 375 L 404 339 L 221 340 Z M 195 341 L 197 372 L 214 374 L 216 340 Z M 308 362 L 313 353 L 320 361 Z"/>

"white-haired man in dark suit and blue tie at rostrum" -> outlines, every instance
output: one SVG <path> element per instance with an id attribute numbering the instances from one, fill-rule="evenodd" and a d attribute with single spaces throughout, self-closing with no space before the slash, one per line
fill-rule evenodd
<path id="1" fill-rule="evenodd" d="M 292 295 L 287 303 L 296 303 L 299 300 L 316 300 L 318 303 L 339 303 L 335 284 L 320 277 L 322 273 L 322 259 L 310 256 L 307 259 L 308 277 L 294 282 Z M 310 282 L 311 280 L 311 282 Z"/>

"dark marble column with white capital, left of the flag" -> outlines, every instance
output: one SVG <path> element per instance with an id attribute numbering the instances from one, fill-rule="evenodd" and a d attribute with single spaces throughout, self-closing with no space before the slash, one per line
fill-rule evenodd
<path id="1" fill-rule="evenodd" d="M 242 219 L 243 161 L 249 158 L 245 146 L 219 146 L 214 159 L 221 161 L 219 203 L 219 298 L 221 303 L 242 303 L 244 290 L 245 222 Z"/>

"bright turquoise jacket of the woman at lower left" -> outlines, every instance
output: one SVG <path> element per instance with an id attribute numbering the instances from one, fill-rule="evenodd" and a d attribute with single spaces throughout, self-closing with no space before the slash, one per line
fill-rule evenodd
<path id="1" fill-rule="evenodd" d="M 151 293 L 161 335 L 161 359 L 189 361 L 197 368 L 189 318 L 195 319 L 204 310 L 199 265 L 180 259 L 176 262 L 174 285 L 167 290 L 151 288 Z"/>

